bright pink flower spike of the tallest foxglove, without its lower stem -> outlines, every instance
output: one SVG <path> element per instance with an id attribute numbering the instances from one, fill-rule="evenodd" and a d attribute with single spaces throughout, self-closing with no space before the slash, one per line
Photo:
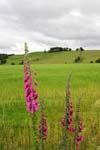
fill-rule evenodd
<path id="1" fill-rule="evenodd" d="M 27 48 L 27 47 L 26 47 Z M 24 57 L 24 91 L 26 97 L 26 107 L 30 113 L 35 113 L 38 110 L 38 93 L 36 89 L 34 89 L 32 81 L 34 81 L 31 75 L 31 66 L 27 61 L 28 50 L 25 49 L 25 57 Z M 38 85 L 35 80 L 35 85 Z"/>

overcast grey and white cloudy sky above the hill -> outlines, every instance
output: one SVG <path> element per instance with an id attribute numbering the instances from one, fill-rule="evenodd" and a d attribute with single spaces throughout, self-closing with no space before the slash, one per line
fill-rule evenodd
<path id="1" fill-rule="evenodd" d="M 99 0 L 0 0 L 0 53 L 100 49 Z"/>

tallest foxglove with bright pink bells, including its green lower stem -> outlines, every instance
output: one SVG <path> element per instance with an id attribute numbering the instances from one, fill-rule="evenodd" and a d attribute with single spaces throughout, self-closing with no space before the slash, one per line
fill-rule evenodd
<path id="1" fill-rule="evenodd" d="M 26 98 L 26 109 L 31 114 L 32 117 L 32 128 L 33 128 L 33 137 L 34 137 L 34 150 L 39 149 L 38 144 L 38 134 L 37 134 L 37 115 L 36 111 L 39 107 L 38 102 L 38 93 L 36 91 L 36 86 L 38 82 L 33 78 L 31 73 L 31 64 L 28 56 L 28 46 L 25 43 L 25 54 L 24 54 L 24 91 Z M 37 75 L 37 72 L 34 72 L 34 75 Z"/>

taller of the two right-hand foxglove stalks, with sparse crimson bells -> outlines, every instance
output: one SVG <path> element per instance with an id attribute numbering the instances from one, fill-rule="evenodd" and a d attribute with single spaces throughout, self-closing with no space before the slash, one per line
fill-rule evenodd
<path id="1" fill-rule="evenodd" d="M 71 74 L 69 75 L 66 87 L 66 103 L 65 103 L 65 113 L 61 120 L 61 124 L 63 126 L 62 132 L 62 143 L 60 145 L 61 150 L 70 149 L 69 139 L 68 139 L 68 132 L 74 132 L 75 129 L 72 127 L 73 122 L 73 107 L 71 101 L 71 93 L 70 93 L 70 79 Z"/>

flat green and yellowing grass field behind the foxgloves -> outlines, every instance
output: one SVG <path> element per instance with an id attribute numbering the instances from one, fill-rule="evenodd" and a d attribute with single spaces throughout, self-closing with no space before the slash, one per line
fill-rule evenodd
<path id="1" fill-rule="evenodd" d="M 96 57 L 98 53 L 100 52 L 95 54 Z M 44 55 L 48 54 L 44 53 Z M 57 53 L 57 55 L 59 54 Z M 13 61 L 12 58 L 8 64 Z M 60 58 L 58 63 L 64 63 L 65 60 L 61 55 Z M 95 59 L 94 56 L 91 59 Z M 88 58 L 89 60 L 90 58 Z M 67 61 L 70 62 L 70 58 Z M 41 62 L 44 63 L 42 58 Z M 53 63 L 52 60 L 50 62 Z M 44 99 L 49 125 L 45 149 L 56 149 L 62 129 L 60 121 L 64 114 L 66 80 L 72 71 L 71 95 L 74 109 L 78 97 L 84 93 L 81 102 L 84 141 L 80 150 L 100 150 L 100 65 L 38 64 L 32 66 L 32 70 L 34 69 L 38 71 L 36 79 L 39 87 L 37 90 L 40 99 L 41 97 Z M 31 116 L 25 106 L 22 65 L 0 66 L 0 130 L 0 150 L 33 149 L 34 137 L 32 137 Z"/>

